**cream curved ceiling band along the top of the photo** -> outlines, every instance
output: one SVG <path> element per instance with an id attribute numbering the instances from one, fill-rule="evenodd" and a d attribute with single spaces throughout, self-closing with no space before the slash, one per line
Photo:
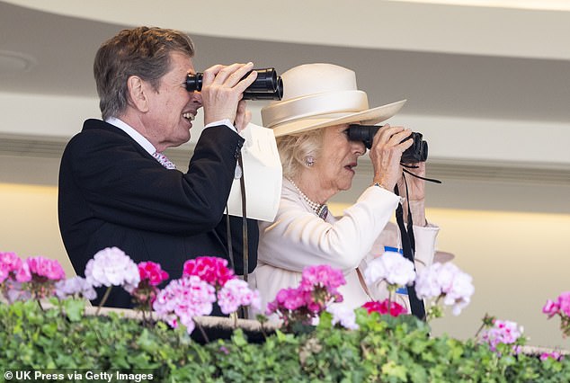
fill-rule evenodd
<path id="1" fill-rule="evenodd" d="M 4 0 L 6 1 L 6 0 Z M 226 2 L 225 12 L 202 12 L 187 0 L 171 0 L 167 9 L 153 0 L 7 0 L 46 12 L 116 24 L 169 25 L 191 34 L 231 36 L 367 49 L 402 49 L 520 58 L 570 58 L 566 7 L 521 1 L 512 7 L 457 6 L 423 2 L 359 0 L 289 0 L 264 6 L 255 0 Z M 476 2 L 468 2 L 475 4 Z M 530 4 L 534 3 L 534 4 Z M 542 4 L 541 4 L 542 3 Z M 527 5 L 528 9 L 517 9 Z M 542 6 L 540 6 L 542 5 Z M 533 10 L 534 9 L 534 10 Z M 343 28 L 342 33 L 331 33 Z M 548 43 L 544 37 L 548 36 Z"/>

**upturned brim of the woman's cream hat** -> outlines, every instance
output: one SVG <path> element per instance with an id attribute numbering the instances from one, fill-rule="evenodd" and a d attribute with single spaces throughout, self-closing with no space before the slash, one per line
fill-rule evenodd
<path id="1" fill-rule="evenodd" d="M 368 109 L 366 111 L 343 113 L 342 116 L 316 116 L 315 118 L 292 120 L 273 127 L 273 134 L 275 137 L 281 137 L 334 125 L 350 124 L 352 122 L 374 125 L 394 116 L 400 109 L 402 109 L 405 102 L 406 100 L 401 100 L 398 102 L 388 103 L 377 108 Z"/>

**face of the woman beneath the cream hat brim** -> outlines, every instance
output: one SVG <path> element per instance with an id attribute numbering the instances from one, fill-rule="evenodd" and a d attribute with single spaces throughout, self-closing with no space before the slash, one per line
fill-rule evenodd
<path id="1" fill-rule="evenodd" d="M 313 165 L 322 190 L 345 191 L 351 188 L 358 157 L 366 152 L 361 141 L 348 139 L 348 124 L 325 128 L 320 156 Z"/>

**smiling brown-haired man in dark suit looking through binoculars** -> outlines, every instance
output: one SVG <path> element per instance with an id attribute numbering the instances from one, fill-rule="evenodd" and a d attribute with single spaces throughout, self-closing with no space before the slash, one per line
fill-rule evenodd
<path id="1" fill-rule="evenodd" d="M 94 62 L 102 120 L 86 120 L 61 159 L 58 218 L 77 274 L 103 248 L 117 246 L 136 263 L 160 263 L 179 278 L 183 263 L 200 255 L 228 259 L 227 198 L 251 115 L 242 100 L 253 64 L 204 71 L 201 92 L 185 89 L 194 74 L 194 49 L 180 32 L 140 27 L 102 44 Z M 190 139 L 191 121 L 204 125 L 188 172 L 161 152 Z M 258 229 L 248 220 L 249 262 L 256 263 Z M 236 273 L 244 270 L 242 218 L 229 218 Z M 101 294 L 100 294 L 101 295 Z M 97 303 L 97 302 L 95 302 Z M 130 307 L 113 289 L 107 306 Z"/>

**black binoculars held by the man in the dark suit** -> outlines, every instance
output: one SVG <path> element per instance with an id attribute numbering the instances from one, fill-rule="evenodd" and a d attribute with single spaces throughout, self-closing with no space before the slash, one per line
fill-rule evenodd
<path id="1" fill-rule="evenodd" d="M 283 81 L 277 76 L 275 68 L 253 69 L 242 78 L 249 76 L 253 71 L 257 72 L 257 78 L 244 92 L 244 100 L 281 100 L 283 98 Z M 202 90 L 203 73 L 186 76 L 186 90 L 188 92 L 200 92 Z"/>

